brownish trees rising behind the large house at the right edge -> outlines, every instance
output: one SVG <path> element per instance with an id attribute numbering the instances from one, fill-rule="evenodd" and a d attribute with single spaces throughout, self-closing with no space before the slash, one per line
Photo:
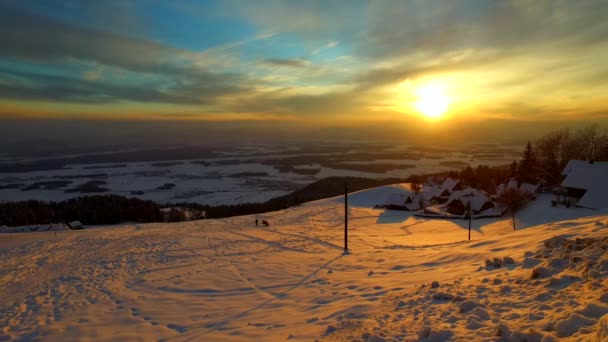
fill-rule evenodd
<path id="1" fill-rule="evenodd" d="M 528 142 L 522 158 L 513 162 L 510 173 L 519 180 L 556 185 L 569 160 L 608 161 L 608 131 L 597 124 L 579 130 L 551 132 Z"/>

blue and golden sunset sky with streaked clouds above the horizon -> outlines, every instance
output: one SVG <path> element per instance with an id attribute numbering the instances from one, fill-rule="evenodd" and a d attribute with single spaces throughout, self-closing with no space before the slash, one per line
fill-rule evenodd
<path id="1" fill-rule="evenodd" d="M 0 0 L 0 119 L 431 125 L 417 103 L 439 89 L 442 122 L 607 122 L 606 17 L 604 0 Z"/>

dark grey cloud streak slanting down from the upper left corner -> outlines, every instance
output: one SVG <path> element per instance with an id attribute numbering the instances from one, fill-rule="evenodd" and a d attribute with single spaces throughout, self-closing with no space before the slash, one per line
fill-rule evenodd
<path id="1" fill-rule="evenodd" d="M 0 3 L 0 57 L 69 66 L 73 61 L 171 77 L 206 78 L 222 83 L 236 75 L 217 75 L 195 64 L 197 52 L 64 23 Z"/>

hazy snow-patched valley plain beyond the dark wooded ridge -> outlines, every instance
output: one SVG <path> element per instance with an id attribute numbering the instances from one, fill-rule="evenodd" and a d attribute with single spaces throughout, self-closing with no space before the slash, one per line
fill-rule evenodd
<path id="1" fill-rule="evenodd" d="M 158 202 L 263 202 L 331 176 L 406 178 L 505 165 L 521 146 L 318 143 L 180 147 L 0 162 L 0 200 L 119 194 Z"/>

